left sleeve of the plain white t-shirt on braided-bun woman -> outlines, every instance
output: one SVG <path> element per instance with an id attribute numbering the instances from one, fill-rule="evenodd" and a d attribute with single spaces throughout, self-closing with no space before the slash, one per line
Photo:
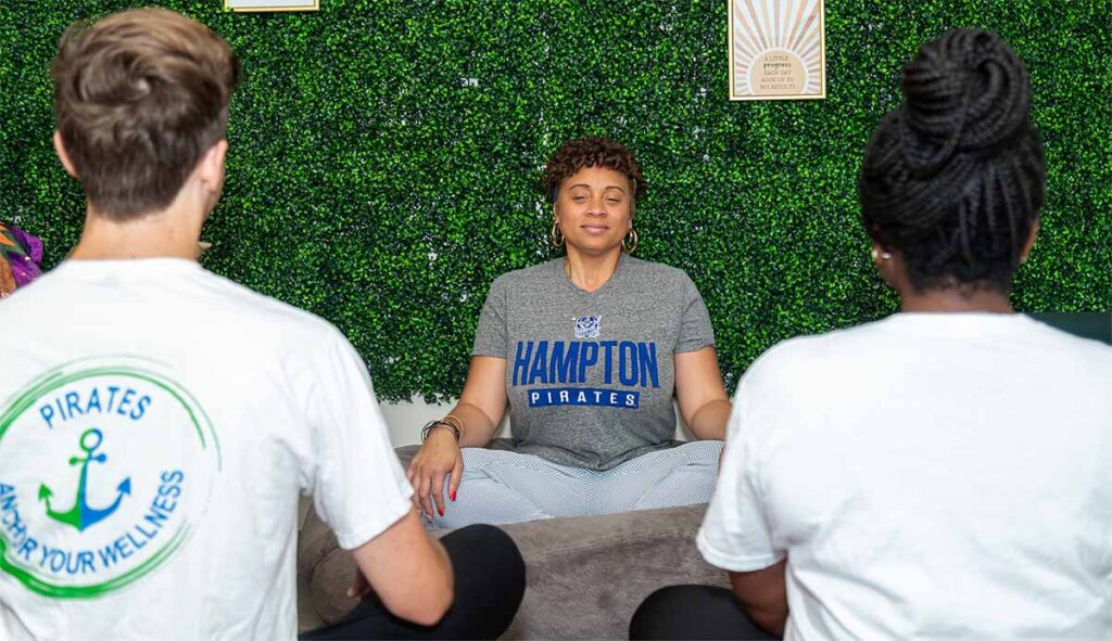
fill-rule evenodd
<path id="1" fill-rule="evenodd" d="M 746 377 L 734 394 L 726 448 L 714 499 L 695 539 L 712 565 L 751 572 L 774 565 L 785 551 L 773 544 L 773 532 L 762 491 L 759 407 Z"/>

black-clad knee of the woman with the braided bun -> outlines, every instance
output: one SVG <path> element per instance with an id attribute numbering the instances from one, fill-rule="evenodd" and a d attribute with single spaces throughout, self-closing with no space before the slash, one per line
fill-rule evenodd
<path id="1" fill-rule="evenodd" d="M 758 628 L 725 588 L 673 585 L 653 592 L 637 608 L 629 639 L 780 638 Z"/>

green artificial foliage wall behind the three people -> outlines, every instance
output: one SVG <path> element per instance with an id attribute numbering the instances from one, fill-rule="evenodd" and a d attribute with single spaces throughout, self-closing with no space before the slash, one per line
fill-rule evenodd
<path id="1" fill-rule="evenodd" d="M 0 2 L 0 218 L 77 241 L 48 67 L 73 20 L 149 0 Z M 1050 166 L 1026 311 L 1112 309 L 1112 2 L 826 3 L 827 99 L 728 100 L 722 0 L 322 0 L 309 14 L 157 2 L 239 53 L 205 266 L 337 324 L 384 399 L 457 394 L 490 281 L 557 256 L 539 171 L 560 141 L 628 144 L 637 256 L 685 269 L 733 389 L 786 338 L 891 313 L 858 222 L 862 150 L 916 47 L 951 27 L 1027 62 Z M 13 328 L 6 328 L 13 329 Z"/>

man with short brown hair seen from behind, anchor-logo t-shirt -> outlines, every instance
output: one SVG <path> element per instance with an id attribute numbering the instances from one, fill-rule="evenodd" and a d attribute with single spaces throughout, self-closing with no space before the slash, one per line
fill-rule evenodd
<path id="1" fill-rule="evenodd" d="M 62 38 L 54 147 L 87 211 L 0 303 L 0 639 L 294 639 L 301 492 L 367 595 L 316 638 L 494 639 L 513 541 L 433 540 L 351 345 L 196 262 L 238 74 L 163 9 Z"/>

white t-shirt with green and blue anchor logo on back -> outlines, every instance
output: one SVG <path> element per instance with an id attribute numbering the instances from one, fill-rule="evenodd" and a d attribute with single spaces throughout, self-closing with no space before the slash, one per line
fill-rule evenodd
<path id="1" fill-rule="evenodd" d="M 191 261 L 69 261 L 0 303 L 0 638 L 292 639 L 298 497 L 410 510 L 364 363 Z"/>

